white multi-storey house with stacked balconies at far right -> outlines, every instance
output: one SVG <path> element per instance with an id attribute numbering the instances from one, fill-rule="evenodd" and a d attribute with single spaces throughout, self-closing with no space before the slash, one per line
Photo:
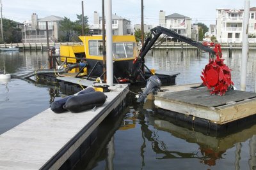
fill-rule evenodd
<path id="1" fill-rule="evenodd" d="M 249 42 L 256 42 L 256 7 L 250 8 Z M 216 10 L 216 38 L 221 43 L 241 43 L 243 41 L 244 10 Z"/>

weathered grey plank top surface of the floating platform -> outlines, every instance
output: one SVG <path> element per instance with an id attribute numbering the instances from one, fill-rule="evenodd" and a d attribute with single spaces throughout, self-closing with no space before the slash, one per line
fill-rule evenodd
<path id="1" fill-rule="evenodd" d="M 230 102 L 252 99 L 256 97 L 256 94 L 239 90 L 228 90 L 224 96 L 219 96 L 209 94 L 209 90 L 206 87 L 200 87 L 197 89 L 165 93 L 162 97 L 164 99 L 196 104 L 198 106 L 216 107 Z"/>

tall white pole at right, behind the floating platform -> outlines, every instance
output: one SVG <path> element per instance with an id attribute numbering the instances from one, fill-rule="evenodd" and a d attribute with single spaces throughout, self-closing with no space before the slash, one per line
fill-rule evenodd
<path id="1" fill-rule="evenodd" d="M 248 23 L 249 23 L 250 0 L 244 1 L 244 18 L 243 18 L 243 48 L 241 60 L 241 90 L 246 89 L 246 67 L 248 59 Z"/>

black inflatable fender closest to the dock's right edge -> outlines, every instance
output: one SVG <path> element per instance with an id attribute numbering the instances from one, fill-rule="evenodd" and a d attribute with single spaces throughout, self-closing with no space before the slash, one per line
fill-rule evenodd
<path id="1" fill-rule="evenodd" d="M 107 96 L 103 92 L 90 92 L 70 97 L 63 105 L 65 110 L 78 113 L 85 110 L 102 106 L 106 102 Z"/>

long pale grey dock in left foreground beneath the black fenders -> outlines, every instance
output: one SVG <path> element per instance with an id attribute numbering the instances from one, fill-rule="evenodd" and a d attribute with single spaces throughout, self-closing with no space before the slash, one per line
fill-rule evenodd
<path id="1" fill-rule="evenodd" d="M 1 134 L 0 169 L 59 169 L 72 154 L 81 154 L 81 145 L 100 122 L 124 104 L 128 89 L 109 87 L 106 103 L 95 110 L 56 114 L 48 109 Z"/>

